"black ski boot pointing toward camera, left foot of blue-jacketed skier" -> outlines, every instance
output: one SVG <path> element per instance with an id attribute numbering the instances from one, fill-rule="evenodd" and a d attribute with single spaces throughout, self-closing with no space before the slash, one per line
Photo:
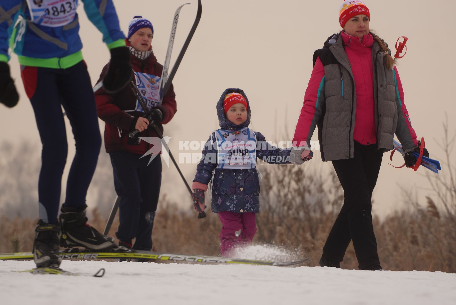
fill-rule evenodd
<path id="1" fill-rule="evenodd" d="M 60 239 L 60 225 L 38 221 L 33 242 L 33 260 L 37 268 L 58 268 L 62 263 L 59 256 L 58 243 Z"/>

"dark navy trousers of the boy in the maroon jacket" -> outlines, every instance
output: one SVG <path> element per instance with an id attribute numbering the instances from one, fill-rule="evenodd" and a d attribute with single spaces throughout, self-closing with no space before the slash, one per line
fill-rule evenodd
<path id="1" fill-rule="evenodd" d="M 129 152 L 109 153 L 114 171 L 114 188 L 120 197 L 119 229 L 116 237 L 134 249 L 152 249 L 152 228 L 161 185 L 161 155 L 150 157 Z"/>

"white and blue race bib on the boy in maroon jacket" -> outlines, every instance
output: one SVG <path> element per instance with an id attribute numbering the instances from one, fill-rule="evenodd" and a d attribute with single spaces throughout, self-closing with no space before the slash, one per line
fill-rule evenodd
<path id="1" fill-rule="evenodd" d="M 138 87 L 149 110 L 161 105 L 160 76 L 135 72 L 135 85 Z M 138 100 L 136 101 L 135 110 L 144 112 Z"/>

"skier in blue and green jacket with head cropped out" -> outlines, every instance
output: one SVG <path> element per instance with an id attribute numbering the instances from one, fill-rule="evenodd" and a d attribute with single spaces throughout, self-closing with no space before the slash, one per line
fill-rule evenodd
<path id="1" fill-rule="evenodd" d="M 116 91 L 132 75 L 130 52 L 112 0 L 81 0 L 90 21 L 103 33 L 111 63 L 103 84 Z M 86 194 L 101 146 L 90 77 L 81 53 L 78 0 L 2 0 L 0 4 L 0 102 L 17 104 L 8 61 L 10 47 L 19 58 L 26 94 L 35 112 L 43 145 L 38 181 L 39 221 L 33 244 L 37 267 L 57 268 L 62 247 L 107 250 L 114 238 L 87 224 Z M 76 142 L 65 202 L 57 219 L 67 137 L 61 105 Z"/>

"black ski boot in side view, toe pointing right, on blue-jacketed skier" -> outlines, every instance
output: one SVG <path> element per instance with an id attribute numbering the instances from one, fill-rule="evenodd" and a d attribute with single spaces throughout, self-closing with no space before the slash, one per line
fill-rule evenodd
<path id="1" fill-rule="evenodd" d="M 59 220 L 62 224 L 60 246 L 67 248 L 85 247 L 97 251 L 109 251 L 117 247 L 114 237 L 103 235 L 88 225 L 85 208 L 64 208 L 62 206 L 60 212 Z"/>

